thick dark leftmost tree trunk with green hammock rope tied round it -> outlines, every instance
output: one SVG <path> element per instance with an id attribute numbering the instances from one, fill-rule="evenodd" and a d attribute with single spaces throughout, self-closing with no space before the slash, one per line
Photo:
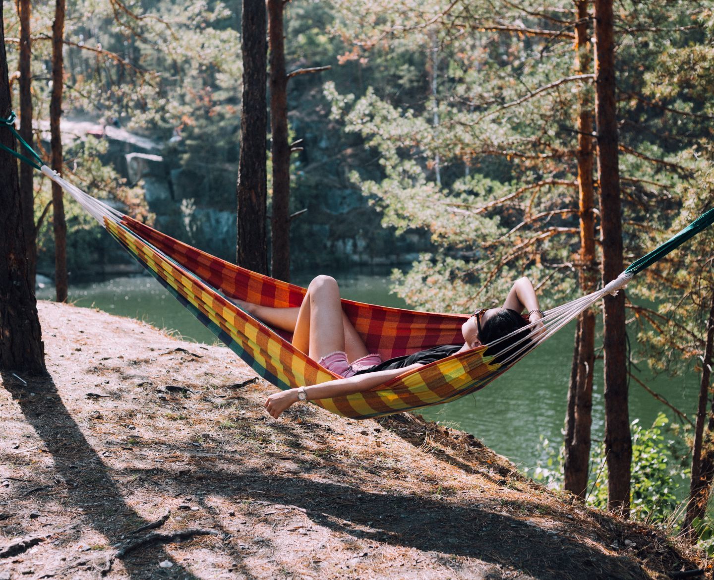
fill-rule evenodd
<path id="1" fill-rule="evenodd" d="M 0 4 L 4 9 L 4 3 Z M 0 10 L 0 115 L 10 115 L 10 82 L 5 34 Z M 14 136 L 0 129 L 0 142 L 15 148 Z M 20 196 L 17 161 L 0 151 L 0 369 L 45 372 L 44 344 L 34 286 L 29 284 L 26 258 L 25 200 Z"/>

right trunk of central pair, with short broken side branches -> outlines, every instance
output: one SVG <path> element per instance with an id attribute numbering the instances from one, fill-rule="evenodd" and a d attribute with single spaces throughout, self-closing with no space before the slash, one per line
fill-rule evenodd
<path id="1" fill-rule="evenodd" d="M 290 145 L 288 144 L 288 76 L 283 34 L 284 0 L 268 0 L 270 41 L 271 153 L 273 207 L 271 276 L 290 280 Z"/>

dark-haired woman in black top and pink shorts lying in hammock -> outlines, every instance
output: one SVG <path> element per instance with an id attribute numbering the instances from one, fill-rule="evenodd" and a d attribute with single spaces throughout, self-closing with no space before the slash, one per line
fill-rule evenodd
<path id="1" fill-rule="evenodd" d="M 535 323 L 534 334 L 542 329 L 542 323 L 538 321 L 543 318 L 531 281 L 521 278 L 508 292 L 503 308 L 477 311 L 463 323 L 461 334 L 464 344 L 433 346 L 408 356 L 382 361 L 378 354 L 370 354 L 367 351 L 361 337 L 342 311 L 340 289 L 335 279 L 330 276 L 317 276 L 311 281 L 299 308 L 271 308 L 244 301 L 236 302 L 266 324 L 292 332 L 293 345 L 296 348 L 307 353 L 321 366 L 344 377 L 272 394 L 268 397 L 265 407 L 276 419 L 297 401 L 368 391 L 418 366 L 491 343 L 528 326 L 528 322 L 521 316 L 524 309 L 528 310 L 531 323 Z M 524 330 L 523 333 L 509 337 L 489 347 L 488 354 L 498 355 L 509 346 L 520 343 L 528 334 L 529 331 Z"/>

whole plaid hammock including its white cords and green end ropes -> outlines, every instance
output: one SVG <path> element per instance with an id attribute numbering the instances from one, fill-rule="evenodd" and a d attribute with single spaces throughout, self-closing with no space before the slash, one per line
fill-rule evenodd
<path id="1" fill-rule="evenodd" d="M 300 306 L 306 289 L 206 254 L 86 194 L 44 165 L 40 156 L 16 133 L 13 122 L 14 114 L 8 119 L 0 119 L 0 125 L 6 125 L 15 134 L 39 161 L 39 165 L 6 146 L 2 149 L 36 167 L 61 186 L 256 373 L 280 389 L 339 378 L 296 349 L 289 336 L 278 334 L 233 301 L 238 299 L 278 308 Z M 602 289 L 545 311 L 540 323 L 527 324 L 489 344 L 408 371 L 375 389 L 314 399 L 311 403 L 341 416 L 366 419 L 443 404 L 471 394 L 503 374 L 603 296 L 616 294 L 639 271 L 712 223 L 714 209 L 630 264 L 617 279 Z M 463 342 L 461 325 L 468 319 L 468 315 L 463 314 L 418 312 L 350 300 L 343 300 L 342 304 L 343 311 L 362 336 L 368 350 L 379 352 L 386 359 L 439 344 L 459 344 Z M 514 336 L 518 336 L 515 341 Z M 504 341 L 510 343 L 502 349 Z M 496 362 L 496 354 L 489 354 L 489 350 L 491 353 L 501 351 L 498 356 L 501 361 Z"/>

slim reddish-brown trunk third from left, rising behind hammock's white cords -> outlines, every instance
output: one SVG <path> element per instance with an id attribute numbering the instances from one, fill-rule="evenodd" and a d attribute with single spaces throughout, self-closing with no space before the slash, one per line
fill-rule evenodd
<path id="1" fill-rule="evenodd" d="M 52 24 L 52 96 L 49 103 L 49 130 L 52 147 L 52 169 L 62 173 L 62 138 L 59 120 L 62 116 L 62 86 L 64 62 L 62 37 L 64 36 L 64 0 L 56 0 Z M 67 300 L 67 225 L 64 221 L 62 188 L 52 182 L 52 212 L 54 223 L 54 286 L 57 301 Z"/>

